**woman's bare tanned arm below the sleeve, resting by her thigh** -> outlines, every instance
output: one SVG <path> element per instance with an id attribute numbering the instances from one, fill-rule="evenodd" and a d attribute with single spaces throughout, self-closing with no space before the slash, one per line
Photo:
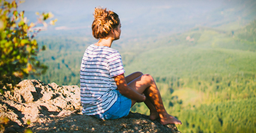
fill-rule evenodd
<path id="1" fill-rule="evenodd" d="M 124 74 L 118 75 L 114 77 L 114 79 L 116 81 L 118 91 L 125 97 L 128 97 L 132 100 L 136 100 L 138 102 L 143 102 L 146 100 L 146 96 L 136 92 L 136 90 L 130 88 L 127 85 Z"/>

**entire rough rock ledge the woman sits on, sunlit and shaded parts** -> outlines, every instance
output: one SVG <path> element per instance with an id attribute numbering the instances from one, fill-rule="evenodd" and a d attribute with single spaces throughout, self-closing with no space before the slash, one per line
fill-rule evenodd
<path id="1" fill-rule="evenodd" d="M 139 113 L 104 121 L 82 115 L 77 85 L 24 80 L 18 86 L 0 94 L 0 133 L 180 133 Z"/>

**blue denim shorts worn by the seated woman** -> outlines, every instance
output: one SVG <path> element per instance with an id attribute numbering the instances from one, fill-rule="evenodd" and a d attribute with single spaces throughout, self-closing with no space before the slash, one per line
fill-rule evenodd
<path id="1" fill-rule="evenodd" d="M 112 107 L 110 107 L 104 113 L 94 115 L 94 117 L 102 120 L 112 120 L 128 116 L 131 109 L 132 100 L 123 96 L 118 90 L 117 95 L 117 101 L 112 105 Z"/>

